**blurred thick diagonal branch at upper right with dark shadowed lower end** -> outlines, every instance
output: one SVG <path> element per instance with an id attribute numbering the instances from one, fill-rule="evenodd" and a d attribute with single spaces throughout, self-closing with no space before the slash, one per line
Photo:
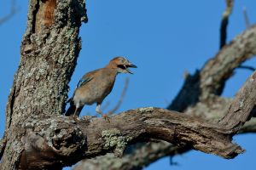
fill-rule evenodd
<path id="1" fill-rule="evenodd" d="M 252 26 L 222 48 L 216 56 L 208 60 L 201 71 L 189 76 L 183 88 L 167 108 L 184 111 L 189 105 L 222 94 L 224 83 L 234 74 L 234 70 L 247 59 L 256 55 L 256 26 Z"/>

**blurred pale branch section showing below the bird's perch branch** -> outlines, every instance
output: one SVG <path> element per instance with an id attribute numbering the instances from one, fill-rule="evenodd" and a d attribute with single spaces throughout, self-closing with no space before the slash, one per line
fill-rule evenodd
<path id="1" fill-rule="evenodd" d="M 131 152 L 130 147 L 128 147 L 126 149 L 127 154 L 125 154 L 125 156 L 122 158 L 113 156 L 113 154 L 107 154 L 106 156 L 97 156 L 95 159 L 84 159 L 83 161 L 80 161 L 75 167 L 73 167 L 73 170 L 143 169 L 143 167 L 146 167 L 150 163 L 156 161 L 159 159 L 159 157 L 170 155 L 175 156 L 179 153 L 190 150 L 189 147 L 186 148 L 184 146 L 177 146 L 165 141 L 160 141 L 159 143 L 141 143 L 136 145 L 139 145 L 140 147 L 137 147 L 137 150 L 132 149 Z M 134 145 L 132 145 L 132 147 L 134 147 Z M 158 150 L 155 150 L 155 147 L 157 147 Z"/>

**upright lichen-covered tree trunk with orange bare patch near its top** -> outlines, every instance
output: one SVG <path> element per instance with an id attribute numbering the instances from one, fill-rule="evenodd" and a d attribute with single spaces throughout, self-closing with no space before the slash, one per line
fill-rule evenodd
<path id="1" fill-rule="evenodd" d="M 82 0 L 31 0 L 20 65 L 6 106 L 0 169 L 18 169 L 27 120 L 60 115 L 81 48 L 79 26 L 87 20 Z"/>

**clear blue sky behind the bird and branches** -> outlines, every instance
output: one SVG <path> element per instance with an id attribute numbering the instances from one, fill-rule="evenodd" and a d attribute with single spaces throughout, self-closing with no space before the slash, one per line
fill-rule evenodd
<path id="1" fill-rule="evenodd" d="M 130 84 L 119 111 L 143 106 L 165 108 L 181 88 L 183 72 L 193 73 L 218 52 L 218 30 L 225 8 L 224 0 L 86 2 L 89 22 L 80 31 L 83 49 L 70 82 L 70 95 L 85 72 L 107 65 L 113 56 L 124 55 L 138 65 L 138 69 L 134 70 L 133 76 L 119 75 L 113 93 L 105 99 L 105 104 L 110 102 L 108 109 L 118 101 L 125 77 L 130 77 Z M 0 26 L 0 136 L 3 135 L 9 88 L 20 60 L 20 41 L 26 29 L 27 2 L 17 0 L 17 5 L 19 12 Z M 245 30 L 243 6 L 247 7 L 251 23 L 256 23 L 256 1 L 236 1 L 230 17 L 229 40 Z M 8 11 L 9 1 L 1 1 L 0 16 Z M 247 65 L 256 65 L 256 59 L 248 61 Z M 250 71 L 237 70 L 227 83 L 224 96 L 233 97 L 250 74 Z M 87 112 L 95 114 L 95 105 L 82 111 L 83 115 Z M 247 152 L 234 160 L 190 151 L 174 157 L 179 166 L 170 167 L 169 158 L 165 158 L 146 169 L 253 169 L 256 135 L 239 135 L 235 141 Z"/>

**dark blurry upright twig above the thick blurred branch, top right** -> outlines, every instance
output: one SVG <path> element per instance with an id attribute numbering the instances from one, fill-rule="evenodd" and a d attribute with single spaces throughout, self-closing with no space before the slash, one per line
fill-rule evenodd
<path id="1" fill-rule="evenodd" d="M 226 5 L 227 5 L 227 8 L 225 9 L 224 14 L 222 15 L 221 26 L 220 26 L 220 43 L 219 43 L 220 49 L 223 48 L 224 45 L 226 44 L 227 27 L 229 24 L 230 14 L 232 13 L 232 9 L 234 7 L 234 0 L 226 0 Z"/>

